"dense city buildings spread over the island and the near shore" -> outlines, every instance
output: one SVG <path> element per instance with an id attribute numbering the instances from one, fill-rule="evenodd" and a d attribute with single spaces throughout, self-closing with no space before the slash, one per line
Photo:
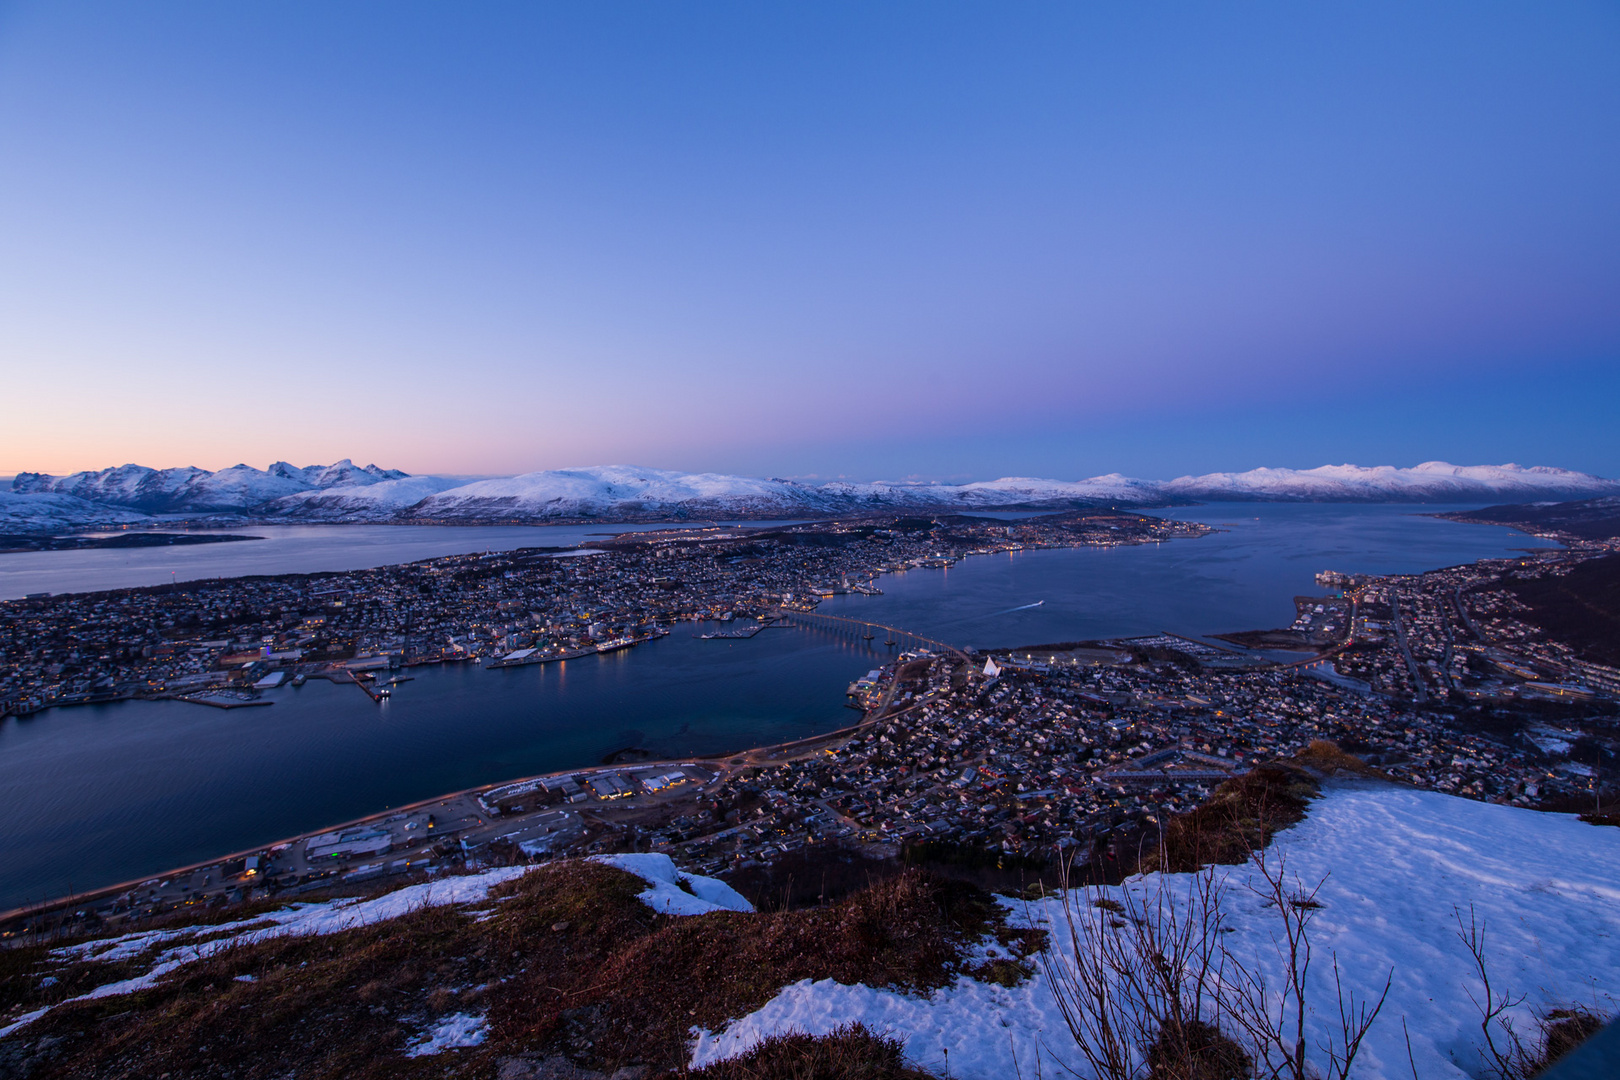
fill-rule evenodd
<path id="1" fill-rule="evenodd" d="M 84 904 L 86 920 L 113 921 L 609 850 L 664 850 L 708 874 L 815 845 L 1102 857 L 1317 740 L 1393 780 L 1469 798 L 1550 806 L 1599 785 L 1584 750 L 1614 738 L 1620 670 L 1528 622 L 1513 586 L 1567 575 L 1615 541 L 1565 538 L 1563 549 L 1421 575 L 1327 570 L 1319 596 L 1296 597 L 1293 625 L 1225 640 L 966 648 L 815 614 L 828 596 L 880 593 L 886 573 L 1207 531 L 1113 512 L 674 528 L 565 552 L 37 596 L 0 606 L 0 712 L 125 698 L 238 708 L 308 678 L 381 699 L 418 664 L 567 662 L 680 622 L 724 638 L 799 622 L 889 646 L 888 662 L 849 687 L 859 717 L 844 730 L 446 797 Z"/>

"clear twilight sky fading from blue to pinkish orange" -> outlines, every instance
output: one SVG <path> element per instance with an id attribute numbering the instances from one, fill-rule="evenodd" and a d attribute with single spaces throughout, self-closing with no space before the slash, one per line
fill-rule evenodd
<path id="1" fill-rule="evenodd" d="M 1614 3 L 8 3 L 0 474 L 1620 476 Z"/>

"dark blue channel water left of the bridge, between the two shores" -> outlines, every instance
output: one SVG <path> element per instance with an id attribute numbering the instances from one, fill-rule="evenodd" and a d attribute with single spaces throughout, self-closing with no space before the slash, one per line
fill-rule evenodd
<path id="1" fill-rule="evenodd" d="M 272 708 L 126 701 L 0 721 L 0 908 L 627 746 L 705 755 L 833 730 L 857 719 L 844 687 L 886 654 L 813 630 L 692 631 L 559 664 L 413 667 L 382 704 L 309 680 Z"/>

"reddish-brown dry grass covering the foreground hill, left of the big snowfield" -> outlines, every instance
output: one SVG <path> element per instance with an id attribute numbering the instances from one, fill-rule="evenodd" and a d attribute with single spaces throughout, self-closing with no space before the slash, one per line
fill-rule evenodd
<path id="1" fill-rule="evenodd" d="M 633 1064 L 667 1070 L 684 1064 L 692 1025 L 716 1030 L 797 980 L 927 989 L 964 972 L 983 934 L 1022 955 L 1042 944 L 1008 928 L 1004 908 L 978 889 L 919 871 L 823 908 L 760 915 L 659 916 L 637 899 L 643 887 L 596 863 L 556 863 L 497 887 L 478 912 L 423 908 L 339 934 L 227 949 L 151 989 L 58 1006 L 0 1040 L 0 1075 L 489 1077 L 504 1059 L 557 1054 L 608 1074 Z M 24 949 L 3 959 L 0 980 L 24 981 L 45 960 Z M 110 981 L 84 967 L 89 984 Z M 985 975 L 1027 973 L 1017 960 L 1003 967 Z M 488 1015 L 488 1041 L 403 1056 L 454 1012 Z M 773 1049 L 778 1057 L 760 1067 L 776 1072 L 760 1075 L 834 1075 L 816 1070 L 839 1054 L 865 1062 L 868 1072 L 850 1075 L 922 1075 L 885 1065 L 880 1043 L 870 1033 L 820 1049 L 792 1043 Z"/>

